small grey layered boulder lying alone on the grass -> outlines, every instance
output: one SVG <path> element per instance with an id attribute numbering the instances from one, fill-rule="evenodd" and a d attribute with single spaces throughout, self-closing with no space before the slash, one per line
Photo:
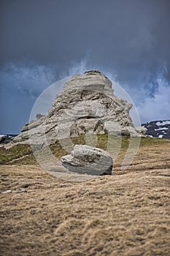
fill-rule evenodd
<path id="1" fill-rule="evenodd" d="M 71 154 L 61 157 L 61 162 L 74 173 L 112 175 L 112 157 L 101 148 L 76 145 Z"/>

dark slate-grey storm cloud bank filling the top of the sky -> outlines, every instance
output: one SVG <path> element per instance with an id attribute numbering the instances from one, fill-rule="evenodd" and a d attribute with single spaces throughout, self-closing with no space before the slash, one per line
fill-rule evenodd
<path id="1" fill-rule="evenodd" d="M 90 54 L 93 64 L 132 79 L 169 65 L 168 1 L 2 1 L 1 63 L 60 64 Z"/>

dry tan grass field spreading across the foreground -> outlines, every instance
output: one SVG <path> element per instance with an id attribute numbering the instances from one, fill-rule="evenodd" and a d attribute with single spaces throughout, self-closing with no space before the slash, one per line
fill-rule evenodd
<path id="1" fill-rule="evenodd" d="M 82 182 L 46 173 L 27 147 L 0 148 L 0 255 L 170 255 L 169 148 L 142 138 L 125 171 L 122 148 L 112 176 Z"/>

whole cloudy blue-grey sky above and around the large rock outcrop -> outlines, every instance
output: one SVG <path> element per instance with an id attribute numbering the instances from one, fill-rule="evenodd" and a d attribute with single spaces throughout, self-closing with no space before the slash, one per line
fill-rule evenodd
<path id="1" fill-rule="evenodd" d="M 141 122 L 170 119 L 169 0 L 1 0 L 0 133 L 18 133 L 55 81 L 98 69 Z"/>

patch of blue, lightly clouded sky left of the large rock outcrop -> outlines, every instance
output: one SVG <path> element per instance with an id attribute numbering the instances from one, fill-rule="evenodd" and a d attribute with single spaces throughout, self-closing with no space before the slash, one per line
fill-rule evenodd
<path id="1" fill-rule="evenodd" d="M 0 133 L 19 132 L 39 94 L 55 80 L 53 67 L 8 64 L 0 70 Z"/>

